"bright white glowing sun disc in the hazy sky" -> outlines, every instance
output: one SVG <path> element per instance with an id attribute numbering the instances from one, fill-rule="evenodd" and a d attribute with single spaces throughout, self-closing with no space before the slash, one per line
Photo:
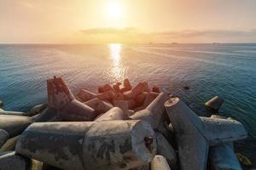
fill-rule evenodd
<path id="1" fill-rule="evenodd" d="M 118 20 L 122 16 L 122 7 L 121 4 L 117 1 L 111 1 L 106 5 L 106 13 L 108 17 L 112 20 Z"/>

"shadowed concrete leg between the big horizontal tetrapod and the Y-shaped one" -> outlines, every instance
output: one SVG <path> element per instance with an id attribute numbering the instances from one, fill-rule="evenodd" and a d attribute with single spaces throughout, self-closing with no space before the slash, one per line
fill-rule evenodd
<path id="1" fill-rule="evenodd" d="M 164 156 L 169 166 L 174 170 L 177 169 L 177 154 L 161 133 L 155 133 L 157 144 L 157 155 Z"/>

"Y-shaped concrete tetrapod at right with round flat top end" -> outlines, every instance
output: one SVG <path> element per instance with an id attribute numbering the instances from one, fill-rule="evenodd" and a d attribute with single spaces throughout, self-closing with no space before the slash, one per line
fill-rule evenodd
<path id="1" fill-rule="evenodd" d="M 245 128 L 239 122 L 203 122 L 177 97 L 168 99 L 165 107 L 176 135 L 182 170 L 206 169 L 209 144 L 231 142 L 247 136 Z M 233 130 L 237 133 L 232 133 Z"/>

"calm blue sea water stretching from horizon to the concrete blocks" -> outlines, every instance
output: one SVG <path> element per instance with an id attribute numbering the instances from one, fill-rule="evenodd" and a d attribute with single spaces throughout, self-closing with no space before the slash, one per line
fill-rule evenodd
<path id="1" fill-rule="evenodd" d="M 249 138 L 236 144 L 256 160 L 256 44 L 0 45 L 4 109 L 27 111 L 47 99 L 46 79 L 64 77 L 77 93 L 129 77 L 180 96 L 198 115 L 215 95 L 221 115 L 242 122 Z M 189 90 L 183 90 L 183 86 Z"/>

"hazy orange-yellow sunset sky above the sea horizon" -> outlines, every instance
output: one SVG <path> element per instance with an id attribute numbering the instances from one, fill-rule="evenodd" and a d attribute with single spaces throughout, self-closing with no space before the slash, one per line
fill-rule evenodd
<path id="1" fill-rule="evenodd" d="M 0 0 L 0 43 L 256 42 L 255 0 Z"/>

